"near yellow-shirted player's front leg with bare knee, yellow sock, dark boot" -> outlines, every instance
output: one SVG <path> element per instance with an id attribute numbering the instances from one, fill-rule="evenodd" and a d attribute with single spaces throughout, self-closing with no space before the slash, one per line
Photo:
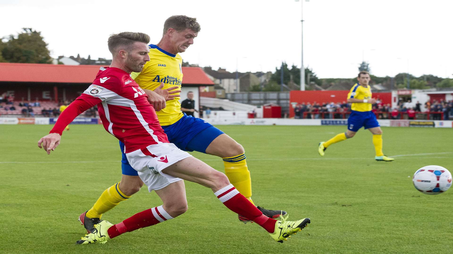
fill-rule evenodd
<path id="1" fill-rule="evenodd" d="M 241 144 L 225 133 L 217 136 L 206 148 L 207 154 L 216 155 L 223 159 L 225 174 L 231 184 L 233 184 L 239 193 L 244 195 L 252 204 L 254 204 L 251 199 L 252 189 L 250 171 L 247 167 L 244 152 L 244 148 Z M 258 207 L 258 209 L 270 218 L 276 218 L 280 216 L 280 214 L 286 214 L 286 212 L 282 210 L 267 210 L 262 207 Z M 241 215 L 239 215 L 238 218 L 239 221 L 244 223 L 251 222 L 251 220 Z"/>

